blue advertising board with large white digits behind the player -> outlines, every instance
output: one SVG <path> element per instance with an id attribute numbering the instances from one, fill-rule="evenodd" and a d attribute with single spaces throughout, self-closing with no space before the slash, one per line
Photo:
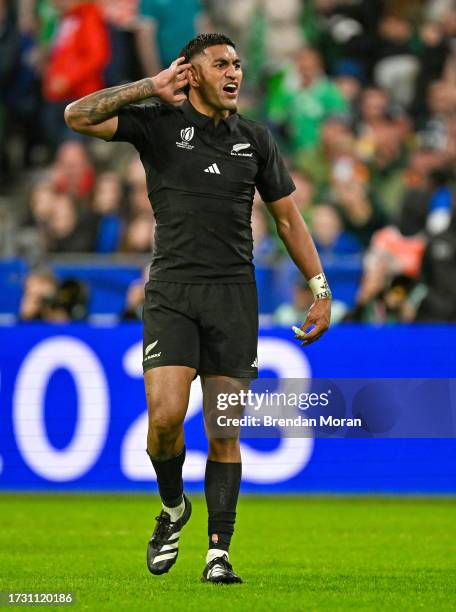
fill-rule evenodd
<path id="1" fill-rule="evenodd" d="M 455 378 L 453 326 L 339 326 L 301 349 L 261 330 L 262 377 Z M 0 489 L 149 490 L 141 327 L 0 328 Z M 186 418 L 189 490 L 204 481 L 199 380 Z M 453 439 L 242 441 L 243 490 L 456 493 Z"/>

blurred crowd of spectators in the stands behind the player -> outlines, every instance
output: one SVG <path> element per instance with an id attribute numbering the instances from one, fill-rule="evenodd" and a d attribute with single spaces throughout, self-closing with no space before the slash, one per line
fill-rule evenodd
<path id="1" fill-rule="evenodd" d="M 456 0 L 0 0 L 0 209 L 14 232 L 0 256 L 38 267 L 21 318 L 83 318 L 77 280 L 39 271 L 49 256 L 151 253 L 136 153 L 70 132 L 63 110 L 156 73 L 198 31 L 237 42 L 240 112 L 280 143 L 323 262 L 362 262 L 335 319 L 456 320 Z M 258 197 L 252 229 L 257 263 L 287 259 Z M 124 318 L 141 295 L 135 283 Z M 296 279 L 276 321 L 309 304 Z"/>

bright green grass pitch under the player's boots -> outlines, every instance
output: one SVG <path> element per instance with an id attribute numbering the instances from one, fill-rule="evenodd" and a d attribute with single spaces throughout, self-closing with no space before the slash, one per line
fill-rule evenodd
<path id="1" fill-rule="evenodd" d="M 159 507 L 144 495 L 0 496 L 0 590 L 73 592 L 85 610 L 456 609 L 456 502 L 416 498 L 241 498 L 231 561 L 245 584 L 199 581 L 206 510 L 177 564 L 148 573 Z"/>

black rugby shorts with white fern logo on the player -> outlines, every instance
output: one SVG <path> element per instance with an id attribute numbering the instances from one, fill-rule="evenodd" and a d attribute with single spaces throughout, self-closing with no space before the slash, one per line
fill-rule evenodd
<path id="1" fill-rule="evenodd" d="M 150 280 L 143 310 L 143 370 L 164 365 L 197 374 L 258 376 L 255 283 Z"/>

